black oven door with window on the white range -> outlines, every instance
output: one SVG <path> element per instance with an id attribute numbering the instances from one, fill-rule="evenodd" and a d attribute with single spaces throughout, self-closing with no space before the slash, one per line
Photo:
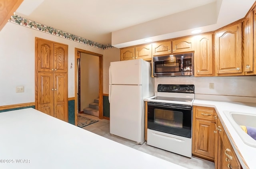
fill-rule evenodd
<path id="1" fill-rule="evenodd" d="M 191 138 L 192 106 L 148 102 L 148 128 Z"/>

